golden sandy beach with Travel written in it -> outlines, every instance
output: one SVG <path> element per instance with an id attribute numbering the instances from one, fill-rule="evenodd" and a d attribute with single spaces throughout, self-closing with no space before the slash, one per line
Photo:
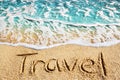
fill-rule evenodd
<path id="1" fill-rule="evenodd" d="M 120 80 L 120 44 L 35 50 L 0 45 L 0 80 Z"/>

